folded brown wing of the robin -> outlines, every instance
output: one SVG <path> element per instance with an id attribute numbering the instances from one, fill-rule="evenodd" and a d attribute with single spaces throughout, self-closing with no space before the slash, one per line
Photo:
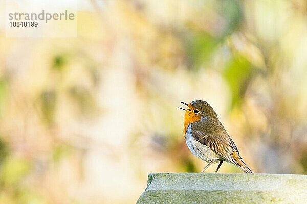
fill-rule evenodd
<path id="1" fill-rule="evenodd" d="M 228 162 L 236 164 L 232 156 L 234 148 L 236 149 L 236 147 L 233 147 L 233 141 L 230 140 L 230 137 L 228 136 L 226 131 L 224 132 L 214 130 L 213 134 L 210 133 L 208 130 L 204 130 L 204 127 L 202 125 L 196 125 L 194 126 L 194 128 L 192 125 L 191 131 L 195 140 L 208 146 L 216 154 L 223 157 L 223 159 L 228 160 Z"/>

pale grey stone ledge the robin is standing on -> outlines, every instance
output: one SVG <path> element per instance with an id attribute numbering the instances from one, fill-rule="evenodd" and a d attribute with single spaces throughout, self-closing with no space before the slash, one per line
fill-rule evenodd
<path id="1" fill-rule="evenodd" d="M 137 203 L 307 203 L 307 175 L 151 173 Z"/>

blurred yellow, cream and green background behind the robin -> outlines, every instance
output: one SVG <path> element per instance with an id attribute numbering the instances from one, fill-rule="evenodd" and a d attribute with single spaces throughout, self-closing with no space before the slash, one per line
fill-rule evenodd
<path id="1" fill-rule="evenodd" d="M 78 4 L 77 38 L 0 24 L 0 203 L 135 203 L 150 172 L 200 172 L 196 99 L 254 172 L 307 173 L 305 0 Z"/>

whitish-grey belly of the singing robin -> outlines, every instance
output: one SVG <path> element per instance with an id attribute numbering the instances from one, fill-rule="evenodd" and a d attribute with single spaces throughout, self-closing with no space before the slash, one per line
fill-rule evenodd
<path id="1" fill-rule="evenodd" d="M 220 161 L 220 156 L 218 156 L 214 151 L 209 149 L 206 145 L 196 141 L 192 136 L 191 131 L 191 124 L 188 126 L 186 135 L 185 135 L 186 143 L 192 152 L 193 155 L 196 157 L 206 161 L 206 162 L 213 162 L 217 163 Z"/>

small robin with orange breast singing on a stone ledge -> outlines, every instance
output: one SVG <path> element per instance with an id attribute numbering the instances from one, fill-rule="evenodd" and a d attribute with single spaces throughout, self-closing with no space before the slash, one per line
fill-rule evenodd
<path id="1" fill-rule="evenodd" d="M 246 173 L 253 173 L 243 162 L 233 140 L 206 101 L 181 103 L 188 107 L 178 107 L 185 111 L 183 135 L 186 143 L 193 155 L 208 162 L 201 173 L 212 163 L 219 162 L 216 173 L 224 161 L 241 167 Z"/>

